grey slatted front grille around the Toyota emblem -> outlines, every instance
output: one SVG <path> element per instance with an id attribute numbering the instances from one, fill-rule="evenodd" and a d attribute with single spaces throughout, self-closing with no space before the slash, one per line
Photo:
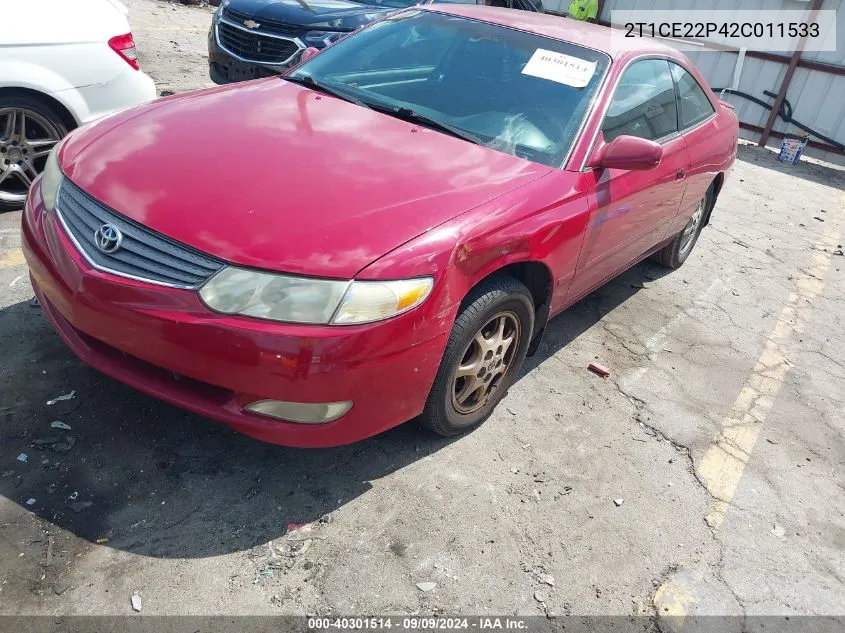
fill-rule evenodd
<path id="1" fill-rule="evenodd" d="M 197 288 L 223 267 L 223 262 L 151 231 L 112 211 L 70 180 L 59 187 L 56 212 L 85 258 L 97 268 L 124 277 L 180 288 Z M 113 253 L 97 248 L 94 233 L 104 224 L 123 234 Z"/>

